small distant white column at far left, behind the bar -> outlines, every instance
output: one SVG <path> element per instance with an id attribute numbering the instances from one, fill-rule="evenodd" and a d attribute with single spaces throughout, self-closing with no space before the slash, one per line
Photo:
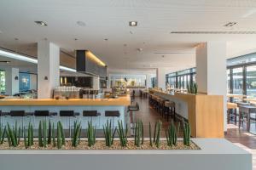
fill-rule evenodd
<path id="1" fill-rule="evenodd" d="M 18 68 L 5 68 L 5 88 L 6 94 L 14 95 L 20 92 L 19 85 L 19 69 Z"/>

